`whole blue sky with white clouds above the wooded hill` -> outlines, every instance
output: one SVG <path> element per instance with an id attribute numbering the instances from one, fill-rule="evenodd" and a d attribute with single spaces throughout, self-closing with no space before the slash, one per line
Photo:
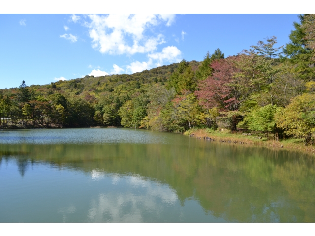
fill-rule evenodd
<path id="1" fill-rule="evenodd" d="M 225 56 L 276 36 L 281 46 L 296 14 L 0 14 L 0 89 L 85 75 L 134 73 Z"/>

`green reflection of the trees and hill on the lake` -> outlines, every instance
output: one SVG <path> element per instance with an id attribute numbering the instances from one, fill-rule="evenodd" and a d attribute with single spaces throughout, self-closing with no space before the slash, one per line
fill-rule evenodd
<path id="1" fill-rule="evenodd" d="M 0 144 L 0 163 L 15 158 L 22 176 L 28 171 L 27 160 L 84 173 L 139 175 L 169 185 L 182 205 L 193 199 L 205 213 L 227 221 L 315 222 L 313 156 L 169 133 L 114 132 L 128 135 L 126 131 L 133 138 L 136 132 L 153 141 Z"/>

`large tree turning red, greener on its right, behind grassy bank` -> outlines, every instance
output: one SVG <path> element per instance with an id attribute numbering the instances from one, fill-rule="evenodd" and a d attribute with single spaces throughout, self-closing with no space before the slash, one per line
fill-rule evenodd
<path id="1" fill-rule="evenodd" d="M 210 65 L 213 69 L 212 76 L 200 81 L 199 90 L 195 92 L 200 104 L 205 108 L 217 107 L 223 112 L 222 115 L 230 117 L 232 130 L 236 129 L 239 120 L 236 111 L 254 91 L 259 90 L 259 84 L 262 82 L 257 66 L 259 57 L 255 54 L 242 53 L 213 61 Z"/>

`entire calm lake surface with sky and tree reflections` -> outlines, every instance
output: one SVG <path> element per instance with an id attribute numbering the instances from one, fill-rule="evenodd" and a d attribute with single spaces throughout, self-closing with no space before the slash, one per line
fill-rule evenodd
<path id="1" fill-rule="evenodd" d="M 147 130 L 0 131 L 0 222 L 315 222 L 314 160 Z"/>

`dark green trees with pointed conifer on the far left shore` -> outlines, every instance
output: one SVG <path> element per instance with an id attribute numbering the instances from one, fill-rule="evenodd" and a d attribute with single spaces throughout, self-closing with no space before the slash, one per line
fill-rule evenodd
<path id="1" fill-rule="evenodd" d="M 0 94 L 1 125 L 24 127 L 81 127 L 93 122 L 94 109 L 84 99 L 66 99 L 60 93 L 42 94 L 27 88 L 25 81 L 19 89 Z"/>

